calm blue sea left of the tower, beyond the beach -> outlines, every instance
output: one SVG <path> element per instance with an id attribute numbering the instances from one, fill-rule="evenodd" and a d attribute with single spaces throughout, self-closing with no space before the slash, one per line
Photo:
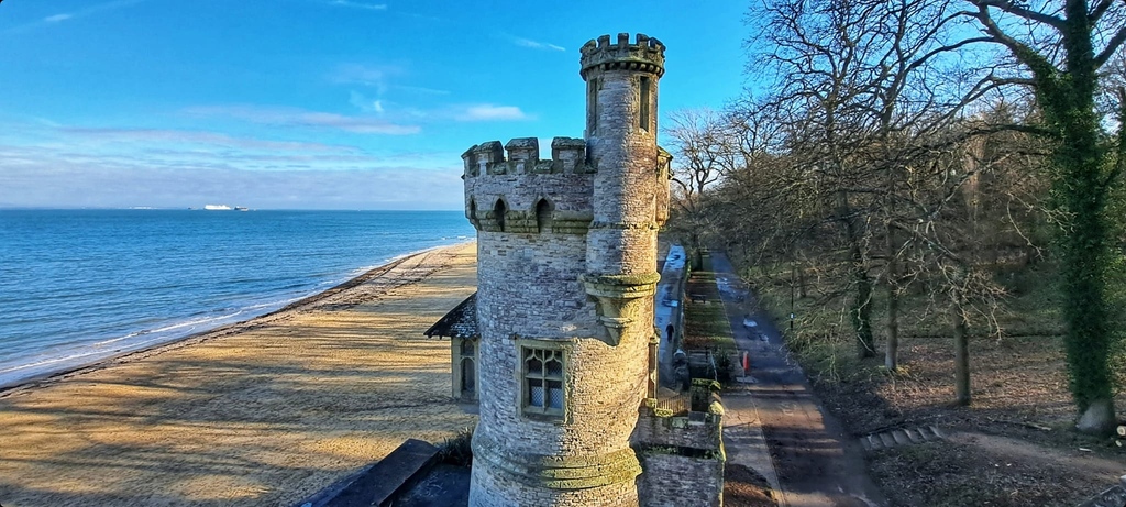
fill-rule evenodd
<path id="1" fill-rule="evenodd" d="M 462 212 L 0 211 L 0 385 L 247 320 L 473 237 Z"/>

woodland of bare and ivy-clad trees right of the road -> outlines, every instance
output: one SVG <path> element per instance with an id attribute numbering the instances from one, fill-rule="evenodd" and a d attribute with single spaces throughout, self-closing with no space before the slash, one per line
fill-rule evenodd
<path id="1" fill-rule="evenodd" d="M 1126 3 L 769 0 L 747 27 L 744 94 L 665 124 L 672 231 L 729 254 L 826 404 L 896 412 L 855 432 L 1115 442 Z M 896 406 L 905 385 L 926 395 Z"/>

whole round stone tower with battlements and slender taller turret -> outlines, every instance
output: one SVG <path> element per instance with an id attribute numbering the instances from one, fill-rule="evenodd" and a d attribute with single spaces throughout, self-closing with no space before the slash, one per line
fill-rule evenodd
<path id="1" fill-rule="evenodd" d="M 581 51 L 586 139 L 555 137 L 551 160 L 536 139 L 462 155 L 477 230 L 471 506 L 638 505 L 631 434 L 656 390 L 669 198 L 656 145 L 664 45 L 619 34 Z"/>

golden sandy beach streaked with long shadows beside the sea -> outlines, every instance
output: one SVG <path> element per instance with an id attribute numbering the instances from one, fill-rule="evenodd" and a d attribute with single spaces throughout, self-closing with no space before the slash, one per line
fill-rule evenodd
<path id="1" fill-rule="evenodd" d="M 0 505 L 291 506 L 476 416 L 422 336 L 476 285 L 472 243 L 283 311 L 0 392 Z"/>

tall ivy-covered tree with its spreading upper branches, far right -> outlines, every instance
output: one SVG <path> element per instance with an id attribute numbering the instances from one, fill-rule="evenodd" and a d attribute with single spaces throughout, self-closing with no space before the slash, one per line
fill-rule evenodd
<path id="1" fill-rule="evenodd" d="M 1114 428 L 1112 330 L 1107 276 L 1111 264 L 1107 205 L 1121 159 L 1096 107 L 1099 70 L 1126 41 L 1120 0 L 967 0 L 981 30 L 1019 64 L 1051 142 L 1060 277 L 1071 391 L 1079 429 Z M 1093 3 L 1093 5 L 1092 5 Z M 1120 130 L 1120 128 L 1119 128 Z M 1120 143 L 1117 143 L 1120 145 Z"/>

